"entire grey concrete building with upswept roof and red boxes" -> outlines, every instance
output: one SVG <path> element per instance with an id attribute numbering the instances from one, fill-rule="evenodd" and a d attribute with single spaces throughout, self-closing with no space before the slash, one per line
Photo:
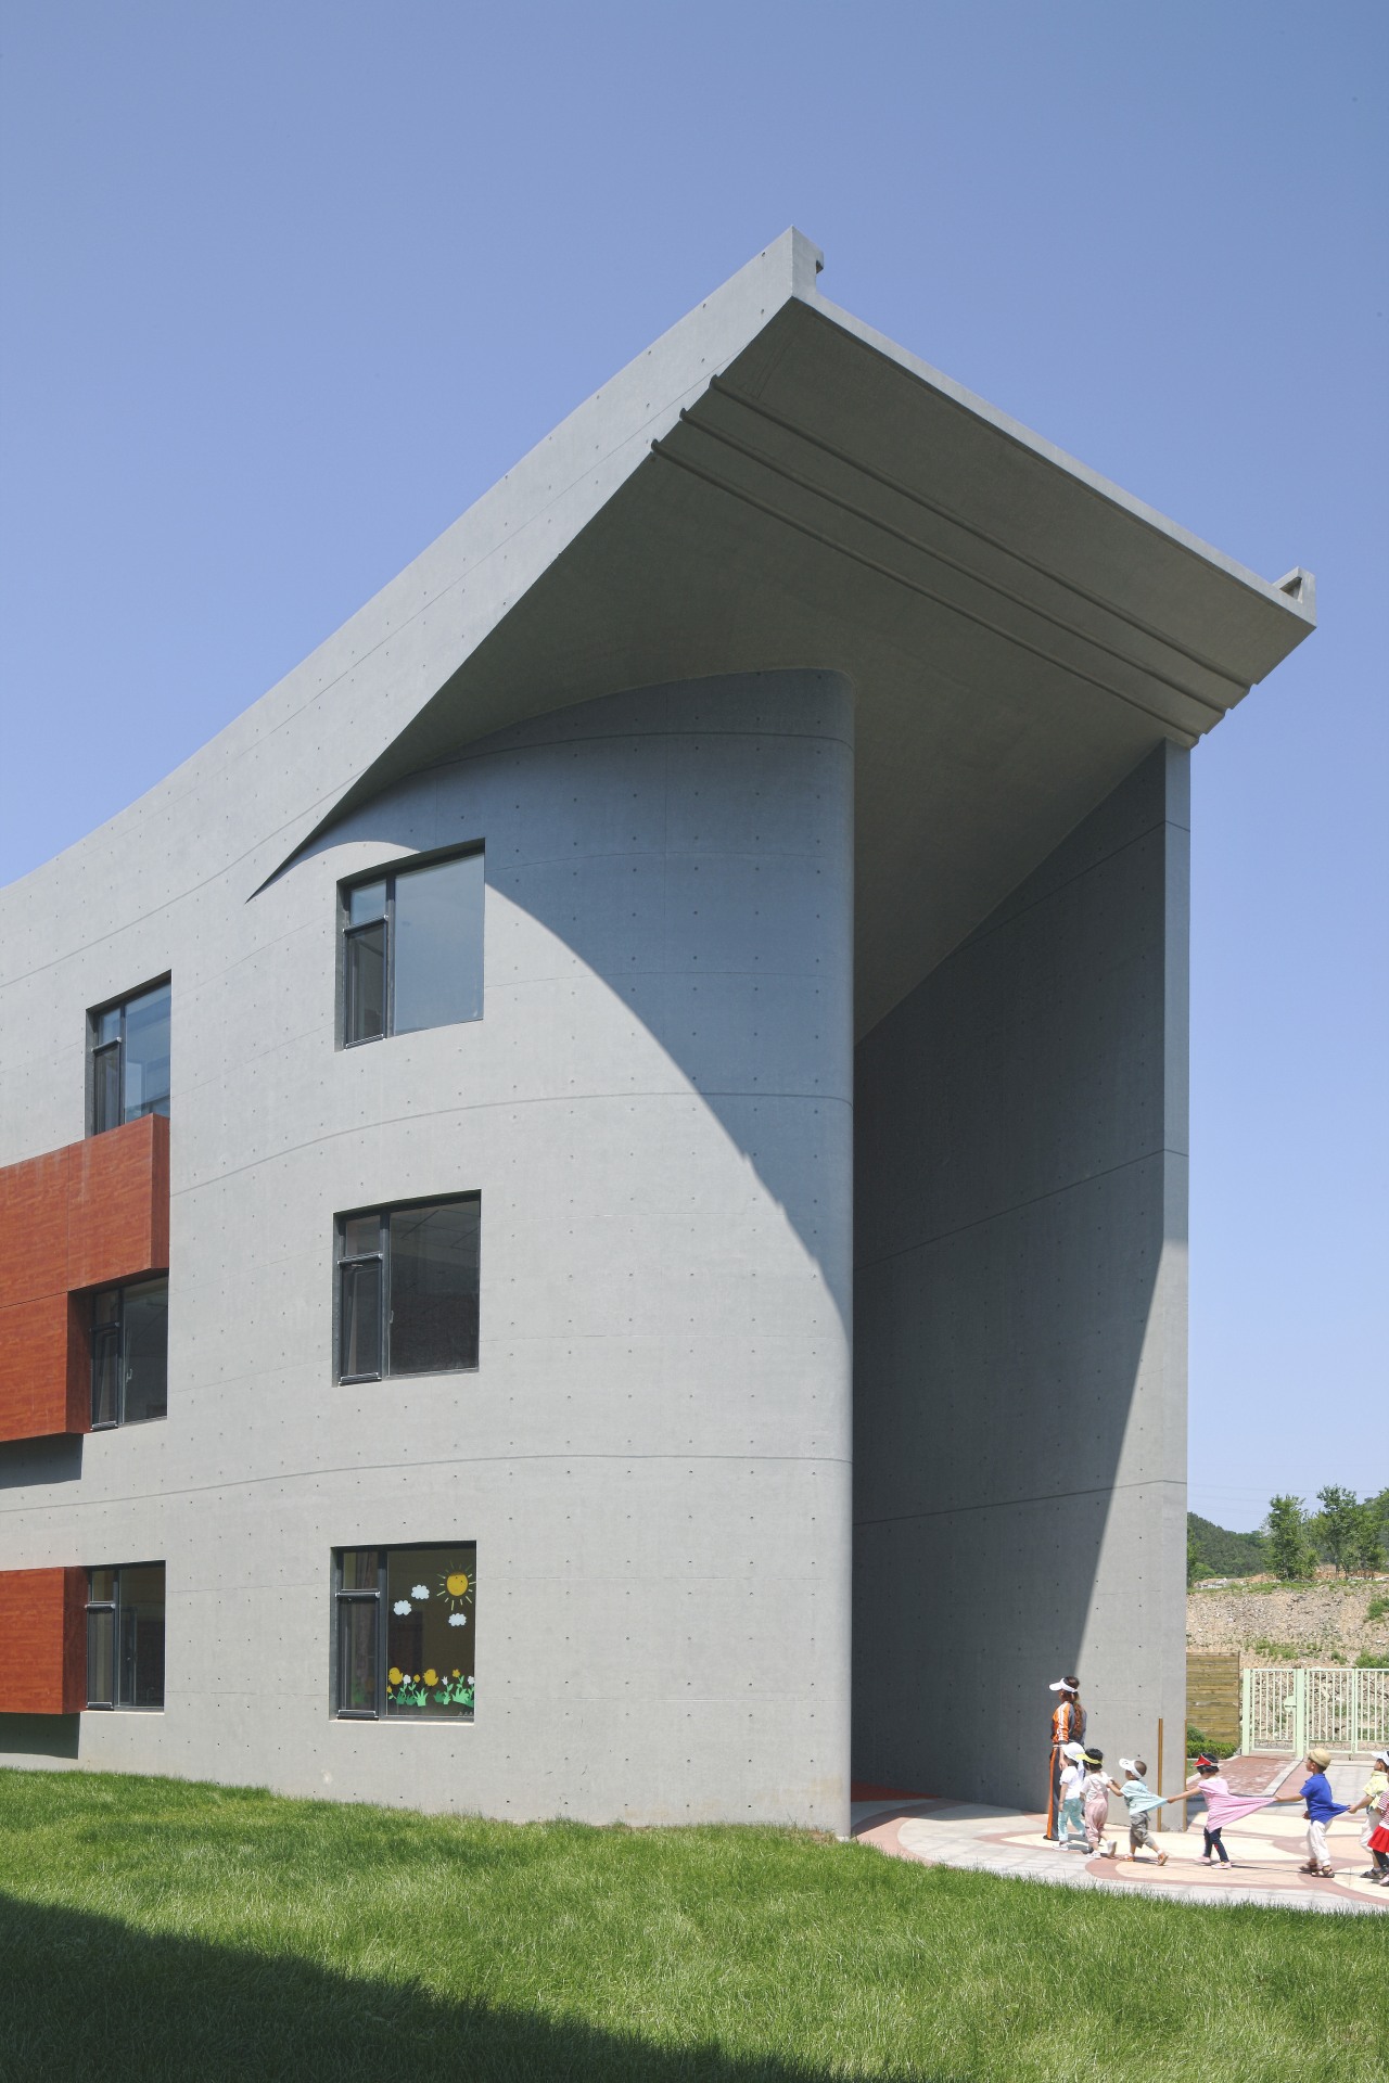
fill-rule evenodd
<path id="1" fill-rule="evenodd" d="M 1312 629 L 795 231 L 0 898 L 0 1754 L 498 1816 L 1183 1731 L 1187 756 Z"/>

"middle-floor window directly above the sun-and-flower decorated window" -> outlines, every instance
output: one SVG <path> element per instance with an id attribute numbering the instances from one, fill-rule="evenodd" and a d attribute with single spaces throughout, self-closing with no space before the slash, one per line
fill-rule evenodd
<path id="1" fill-rule="evenodd" d="M 481 1202 L 337 1219 L 337 1381 L 477 1366 Z"/>

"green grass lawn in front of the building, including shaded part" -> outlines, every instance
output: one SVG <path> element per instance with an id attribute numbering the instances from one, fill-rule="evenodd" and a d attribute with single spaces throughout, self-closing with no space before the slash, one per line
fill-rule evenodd
<path id="1" fill-rule="evenodd" d="M 0 1773 L 0 2075 L 1385 2077 L 1385 1925 L 795 1831 Z"/>

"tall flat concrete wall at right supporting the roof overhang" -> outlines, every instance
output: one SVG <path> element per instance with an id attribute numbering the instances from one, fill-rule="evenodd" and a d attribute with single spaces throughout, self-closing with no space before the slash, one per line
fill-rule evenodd
<path id="1" fill-rule="evenodd" d="M 1052 1679 L 1185 1750 L 1187 754 L 858 1046 L 854 1771 L 1045 1804 Z"/>

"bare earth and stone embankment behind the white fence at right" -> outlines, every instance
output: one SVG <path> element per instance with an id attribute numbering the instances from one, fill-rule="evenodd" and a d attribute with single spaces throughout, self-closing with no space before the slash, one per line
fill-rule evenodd
<path id="1" fill-rule="evenodd" d="M 1389 1581 L 1189 1591 L 1187 1648 L 1252 1664 L 1354 1664 L 1364 1654 L 1389 1664 Z"/>

